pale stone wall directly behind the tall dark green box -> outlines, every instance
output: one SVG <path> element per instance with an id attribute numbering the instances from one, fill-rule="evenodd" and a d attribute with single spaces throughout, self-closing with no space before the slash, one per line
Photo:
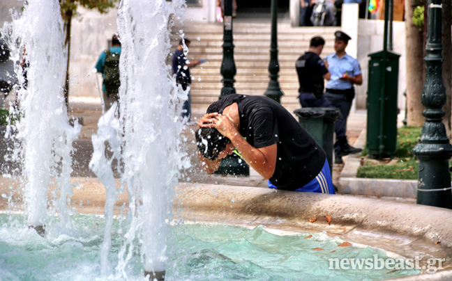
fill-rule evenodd
<path id="1" fill-rule="evenodd" d="M 383 49 L 384 21 L 359 19 L 358 24 L 358 61 L 363 71 L 363 85 L 356 86 L 356 109 L 366 109 L 368 90 L 368 54 Z M 393 51 L 400 54 L 398 80 L 398 108 L 405 109 L 406 88 L 405 70 L 405 22 L 393 22 Z"/>

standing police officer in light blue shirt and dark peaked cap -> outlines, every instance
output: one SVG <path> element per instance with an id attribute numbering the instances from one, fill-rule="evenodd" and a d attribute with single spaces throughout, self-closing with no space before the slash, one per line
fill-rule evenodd
<path id="1" fill-rule="evenodd" d="M 352 38 L 342 31 L 336 31 L 334 35 L 336 36 L 334 42 L 336 53 L 325 57 L 325 65 L 331 73 L 331 79 L 326 82 L 324 97 L 333 106 L 336 106 L 342 115 L 342 118 L 334 126 L 336 132 L 334 155 L 335 163 L 343 163 L 342 156 L 361 152 L 361 149 L 352 147 L 347 143 L 346 133 L 347 118 L 355 96 L 354 84 L 361 85 L 363 75 L 356 58 L 352 58 L 345 52 L 348 40 Z"/>

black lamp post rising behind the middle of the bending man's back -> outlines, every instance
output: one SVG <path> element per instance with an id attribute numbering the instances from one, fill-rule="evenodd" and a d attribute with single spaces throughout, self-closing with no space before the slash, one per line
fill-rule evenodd
<path id="1" fill-rule="evenodd" d="M 264 95 L 281 103 L 284 95 L 278 82 L 278 0 L 271 0 L 271 45 L 269 63 L 270 81 Z"/>

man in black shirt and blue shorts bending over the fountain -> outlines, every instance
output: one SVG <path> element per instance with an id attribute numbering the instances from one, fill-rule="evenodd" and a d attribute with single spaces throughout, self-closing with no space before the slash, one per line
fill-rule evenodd
<path id="1" fill-rule="evenodd" d="M 278 102 L 262 96 L 228 95 L 199 120 L 199 160 L 206 172 L 238 153 L 269 180 L 269 188 L 334 194 L 326 153 Z"/>

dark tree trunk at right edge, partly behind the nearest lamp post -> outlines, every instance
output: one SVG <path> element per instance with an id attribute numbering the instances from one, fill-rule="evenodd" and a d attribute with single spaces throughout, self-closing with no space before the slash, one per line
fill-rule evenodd
<path id="1" fill-rule="evenodd" d="M 451 136 L 451 77 L 452 77 L 452 36 L 451 36 L 451 10 L 452 10 L 452 1 L 451 0 L 443 0 L 442 1 L 442 44 L 443 51 L 442 56 L 444 58 L 443 62 L 443 83 L 444 88 L 446 88 L 446 104 L 444 105 L 444 125 L 446 125 L 447 136 L 449 139 Z"/>

